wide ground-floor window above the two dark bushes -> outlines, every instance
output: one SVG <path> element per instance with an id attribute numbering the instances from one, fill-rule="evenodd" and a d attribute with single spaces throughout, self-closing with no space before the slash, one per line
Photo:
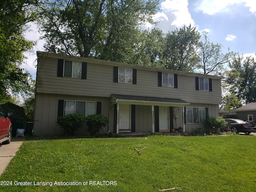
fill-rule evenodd
<path id="1" fill-rule="evenodd" d="M 65 100 L 64 115 L 70 113 L 82 114 L 84 117 L 96 114 L 96 102 Z"/>

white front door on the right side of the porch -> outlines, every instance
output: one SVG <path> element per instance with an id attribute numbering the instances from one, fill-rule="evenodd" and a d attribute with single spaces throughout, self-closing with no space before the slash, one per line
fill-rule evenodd
<path id="1" fill-rule="evenodd" d="M 168 106 L 159 106 L 159 131 L 170 132 Z"/>

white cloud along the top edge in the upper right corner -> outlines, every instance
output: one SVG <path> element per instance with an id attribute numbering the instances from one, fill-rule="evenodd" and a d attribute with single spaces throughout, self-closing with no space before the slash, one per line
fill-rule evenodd
<path id="1" fill-rule="evenodd" d="M 250 8 L 250 12 L 256 12 L 255 0 L 203 0 L 197 9 L 205 14 L 213 15 L 218 12 L 228 12 L 229 6 L 234 4 L 243 4 Z"/>

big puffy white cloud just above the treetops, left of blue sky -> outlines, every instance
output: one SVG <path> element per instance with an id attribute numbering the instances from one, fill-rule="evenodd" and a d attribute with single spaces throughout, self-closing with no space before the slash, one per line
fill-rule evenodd
<path id="1" fill-rule="evenodd" d="M 191 24 L 194 27 L 194 20 L 188 12 L 188 0 L 165 0 L 160 8 L 162 12 L 154 15 L 154 21 L 159 22 L 157 28 L 164 33 L 182 28 L 184 25 Z M 153 27 L 155 26 L 151 26 Z"/>

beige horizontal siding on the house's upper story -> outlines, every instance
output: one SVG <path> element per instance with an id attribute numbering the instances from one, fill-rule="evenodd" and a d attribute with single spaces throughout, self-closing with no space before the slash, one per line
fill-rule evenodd
<path id="1" fill-rule="evenodd" d="M 78 58 L 68 60 L 80 61 Z M 86 60 L 85 60 L 86 62 Z M 178 73 L 178 88 L 158 87 L 158 70 L 113 63 L 87 62 L 87 79 L 57 77 L 57 58 L 38 61 L 36 91 L 77 96 L 110 97 L 111 94 L 180 98 L 191 103 L 221 103 L 220 78 L 212 78 L 212 92 L 196 90 L 195 76 Z M 113 82 L 113 66 L 137 69 L 137 84 Z M 172 73 L 172 71 L 168 71 Z M 174 72 L 175 73 L 175 72 Z"/>

